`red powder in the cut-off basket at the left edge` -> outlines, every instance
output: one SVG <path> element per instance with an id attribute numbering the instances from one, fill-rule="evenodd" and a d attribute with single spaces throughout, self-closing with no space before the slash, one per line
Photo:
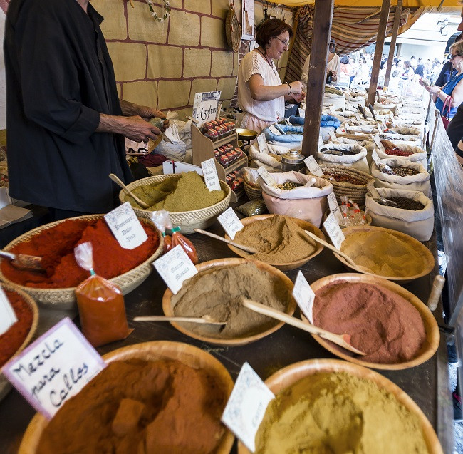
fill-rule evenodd
<path id="1" fill-rule="evenodd" d="M 11 307 L 16 314 L 15 324 L 0 336 L 0 367 L 14 355 L 16 350 L 23 344 L 32 326 L 33 314 L 29 305 L 16 292 L 5 291 Z"/>

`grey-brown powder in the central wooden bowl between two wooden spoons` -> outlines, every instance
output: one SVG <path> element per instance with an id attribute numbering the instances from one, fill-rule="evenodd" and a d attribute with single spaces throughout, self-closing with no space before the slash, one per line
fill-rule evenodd
<path id="1" fill-rule="evenodd" d="M 292 298 L 291 290 L 279 277 L 246 262 L 212 267 L 195 274 L 184 282 L 180 292 L 172 295 L 171 304 L 175 316 L 207 315 L 217 321 L 227 321 L 225 326 L 190 324 L 190 331 L 215 339 L 253 336 L 277 324 L 246 309 L 241 302 L 243 297 L 279 311 L 286 311 Z"/>

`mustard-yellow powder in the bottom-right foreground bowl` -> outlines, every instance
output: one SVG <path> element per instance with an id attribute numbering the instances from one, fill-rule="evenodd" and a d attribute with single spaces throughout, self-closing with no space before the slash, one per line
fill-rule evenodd
<path id="1" fill-rule="evenodd" d="M 256 454 L 428 453 L 420 418 L 365 378 L 314 373 L 269 403 Z"/>

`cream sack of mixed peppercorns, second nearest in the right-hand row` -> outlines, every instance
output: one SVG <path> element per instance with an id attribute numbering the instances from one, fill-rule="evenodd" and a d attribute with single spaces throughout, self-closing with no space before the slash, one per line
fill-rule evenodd
<path id="1" fill-rule="evenodd" d="M 375 187 L 388 189 L 405 189 L 420 191 L 424 195 L 430 192 L 430 174 L 418 162 L 410 162 L 402 158 L 380 160 L 380 165 L 387 165 L 394 175 L 382 172 L 375 162 L 371 164 L 371 175 L 375 177 Z"/>

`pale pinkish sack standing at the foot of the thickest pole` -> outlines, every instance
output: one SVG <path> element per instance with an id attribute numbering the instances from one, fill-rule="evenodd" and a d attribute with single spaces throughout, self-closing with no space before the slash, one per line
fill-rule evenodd
<path id="1" fill-rule="evenodd" d="M 331 182 L 299 172 L 272 173 L 276 186 L 261 180 L 262 197 L 270 213 L 306 220 L 320 227 L 328 207 L 326 197 L 333 192 Z"/>

